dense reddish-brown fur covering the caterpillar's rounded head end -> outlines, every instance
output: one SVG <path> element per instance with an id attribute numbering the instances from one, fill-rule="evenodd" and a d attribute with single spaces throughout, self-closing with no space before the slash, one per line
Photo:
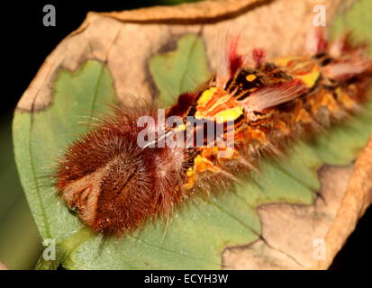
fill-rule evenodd
<path id="1" fill-rule="evenodd" d="M 140 148 L 137 119 L 151 109 L 116 109 L 95 130 L 77 139 L 59 161 L 62 198 L 89 226 L 105 234 L 139 229 L 149 217 L 167 217 L 185 195 L 183 150 Z M 177 166 L 178 165 L 178 166 Z"/>

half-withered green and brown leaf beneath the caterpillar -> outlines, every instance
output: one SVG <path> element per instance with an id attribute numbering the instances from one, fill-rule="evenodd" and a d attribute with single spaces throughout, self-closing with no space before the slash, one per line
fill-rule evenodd
<path id="1" fill-rule="evenodd" d="M 85 130 L 78 123 L 108 112 L 104 103 L 115 103 L 124 93 L 149 97 L 154 88 L 160 101 L 170 103 L 173 96 L 202 84 L 216 65 L 214 40 L 228 27 L 242 31 L 243 49 L 250 49 L 254 39 L 269 57 L 300 51 L 313 16 L 305 9 L 310 3 L 291 0 L 295 11 L 304 13 L 286 10 L 287 17 L 287 1 L 279 0 L 88 14 L 47 58 L 14 114 L 14 151 L 23 188 L 41 237 L 57 243 L 56 261 L 41 258 L 38 268 L 312 267 L 313 239 L 325 237 L 342 206 L 352 171 L 345 165 L 372 132 L 370 103 L 360 117 L 312 145 L 297 142 L 286 161 L 264 161 L 261 175 L 247 179 L 234 193 L 191 200 L 168 224 L 149 224 L 134 237 L 103 239 L 84 227 L 47 177 L 54 160 Z M 339 2 L 324 4 L 331 19 Z M 281 33 L 274 30 L 276 17 L 284 22 Z M 289 19 L 299 24 L 286 25 Z M 341 167 L 330 169 L 325 163 Z M 327 187 L 330 183 L 337 189 Z M 337 249 L 329 257 L 335 253 Z"/>

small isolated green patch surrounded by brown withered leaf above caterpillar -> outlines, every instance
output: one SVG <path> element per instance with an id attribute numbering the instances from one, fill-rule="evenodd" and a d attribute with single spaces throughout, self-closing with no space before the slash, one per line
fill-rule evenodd
<path id="1" fill-rule="evenodd" d="M 178 40 L 176 50 L 150 58 L 149 67 L 165 106 L 175 103 L 179 94 L 195 91 L 211 76 L 204 42 L 195 34 Z"/>

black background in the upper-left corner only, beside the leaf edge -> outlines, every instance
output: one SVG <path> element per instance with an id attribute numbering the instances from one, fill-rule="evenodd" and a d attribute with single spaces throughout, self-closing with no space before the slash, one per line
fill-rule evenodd
<path id="1" fill-rule="evenodd" d="M 3 55 L 7 93 L 2 97 L 6 102 L 1 105 L 2 111 L 13 111 L 44 59 L 63 38 L 83 23 L 87 12 L 121 11 L 163 3 L 167 1 L 97 1 L 95 4 L 91 1 L 7 2 L 1 13 L 4 22 L 2 46 L 8 50 Z M 56 8 L 55 27 L 42 24 L 45 4 L 53 4 Z"/>

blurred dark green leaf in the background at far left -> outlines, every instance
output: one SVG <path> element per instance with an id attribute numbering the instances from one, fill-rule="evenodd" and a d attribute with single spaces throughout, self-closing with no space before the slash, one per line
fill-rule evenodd
<path id="1" fill-rule="evenodd" d="M 39 232 L 32 220 L 15 166 L 11 122 L 9 114 L 3 115 L 0 123 L 0 235 L 3 236 L 0 238 L 0 259 L 9 269 L 23 270 L 34 266 L 41 249 L 38 245 Z"/>

